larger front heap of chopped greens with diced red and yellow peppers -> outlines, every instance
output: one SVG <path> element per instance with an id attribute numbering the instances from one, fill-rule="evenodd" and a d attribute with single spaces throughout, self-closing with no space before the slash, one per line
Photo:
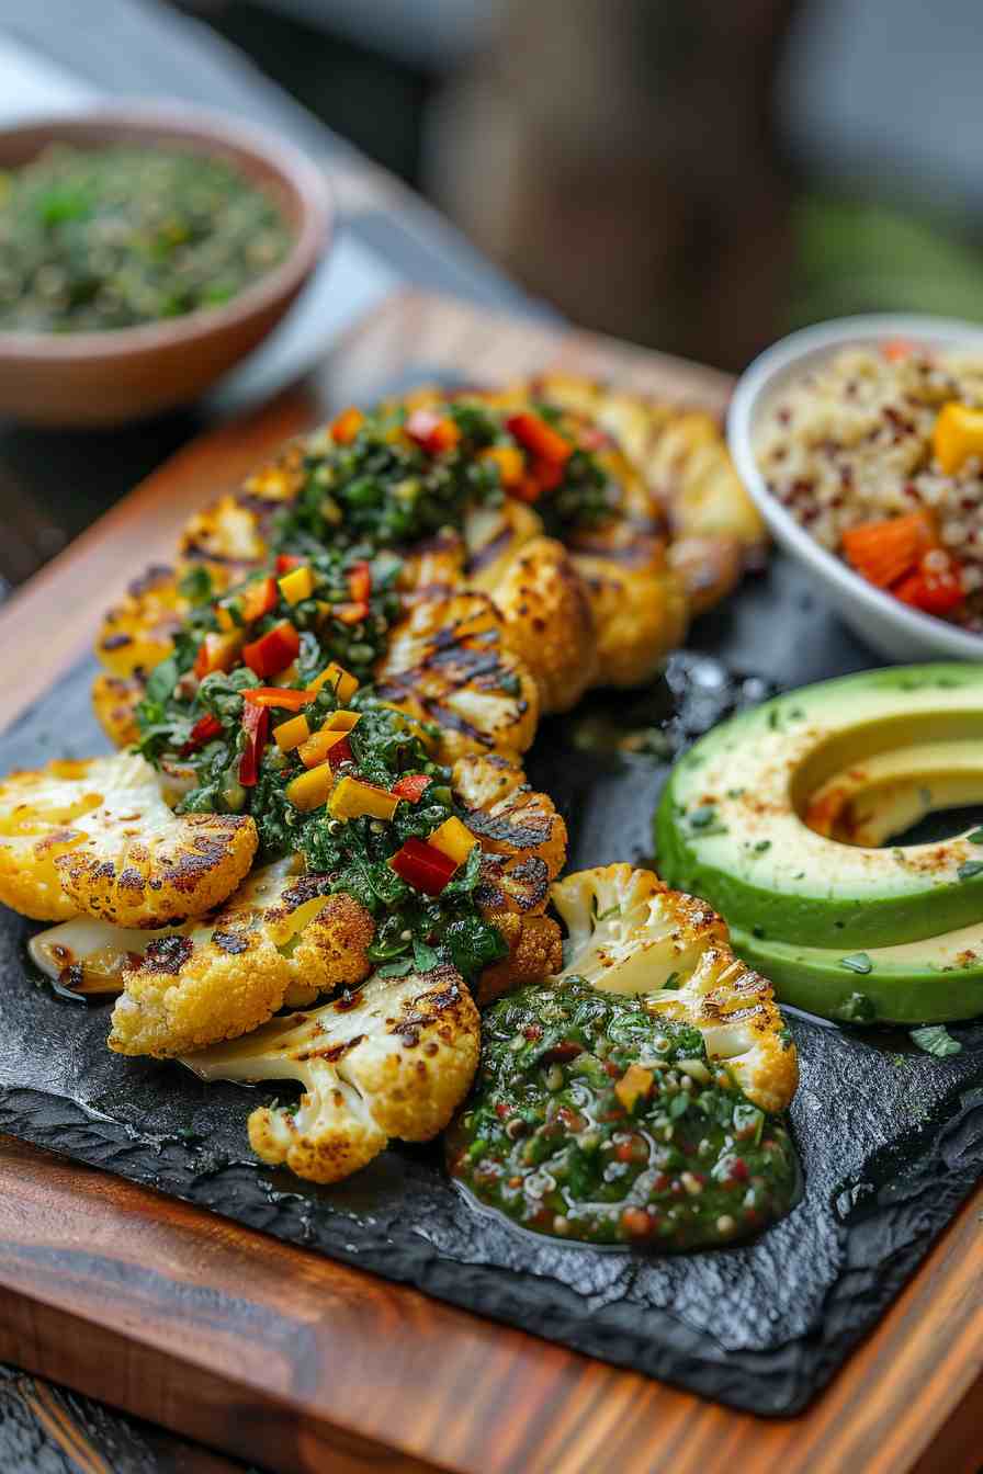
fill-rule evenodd
<path id="1" fill-rule="evenodd" d="M 442 852 L 424 853 L 423 870 L 413 855 L 399 861 L 407 842 L 432 850 L 435 833 L 448 820 L 463 824 L 466 814 L 449 771 L 430 761 L 432 728 L 360 684 L 398 610 L 398 563 L 358 551 L 307 560 L 299 587 L 290 584 L 298 569 L 281 559 L 279 578 L 256 573 L 221 598 L 211 597 L 205 570 L 195 570 L 186 594 L 197 601 L 137 710 L 141 750 L 183 784 L 178 811 L 251 814 L 261 859 L 302 853 L 311 871 L 332 877 L 332 890 L 361 902 L 376 918 L 368 955 L 383 976 L 451 961 L 473 980 L 507 951 L 475 898 L 480 845 L 457 865 L 447 859 L 444 876 L 426 868 L 427 858 L 441 864 Z M 295 598 L 308 582 L 309 593 Z M 256 609 L 264 612 L 251 618 Z M 290 643 L 279 646 L 284 638 Z M 274 641 L 274 685 L 255 669 L 264 640 Z M 223 668 L 205 671 L 203 657 Z M 302 724 L 299 733 L 292 722 Z M 320 750 L 326 733 L 336 740 Z M 345 802 L 335 803 L 345 780 L 354 787 L 349 781 Z M 304 792 L 309 783 L 320 783 L 312 796 Z"/>

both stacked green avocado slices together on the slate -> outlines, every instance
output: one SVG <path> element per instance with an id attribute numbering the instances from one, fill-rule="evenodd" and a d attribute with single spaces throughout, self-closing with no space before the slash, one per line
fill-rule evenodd
<path id="1" fill-rule="evenodd" d="M 825 1017 L 983 1013 L 983 830 L 890 846 L 983 802 L 983 665 L 870 671 L 724 722 L 676 764 L 659 868 L 730 923 L 780 996 Z"/>

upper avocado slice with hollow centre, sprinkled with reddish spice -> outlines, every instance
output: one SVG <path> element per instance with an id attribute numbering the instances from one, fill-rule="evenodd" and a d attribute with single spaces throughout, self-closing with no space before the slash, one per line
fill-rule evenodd
<path id="1" fill-rule="evenodd" d="M 915 777 L 928 759 L 928 790 L 945 777 L 931 750 L 949 750 L 958 797 L 951 792 L 943 802 L 983 797 L 983 665 L 867 671 L 790 691 L 713 728 L 663 792 L 656 817 L 663 879 L 703 896 L 740 932 L 763 929 L 837 957 L 971 926 L 983 917 L 979 834 L 881 849 L 806 824 L 824 787 L 874 759 L 883 764 L 880 792 L 902 794 L 893 817 L 884 799 L 881 831 L 903 828 L 918 783 L 912 789 L 903 765 L 890 771 L 884 755 L 905 749 L 917 752 L 917 761 L 909 752 Z M 872 765 L 856 794 L 875 794 L 877 784 Z M 933 794 L 927 806 L 942 803 Z"/>

